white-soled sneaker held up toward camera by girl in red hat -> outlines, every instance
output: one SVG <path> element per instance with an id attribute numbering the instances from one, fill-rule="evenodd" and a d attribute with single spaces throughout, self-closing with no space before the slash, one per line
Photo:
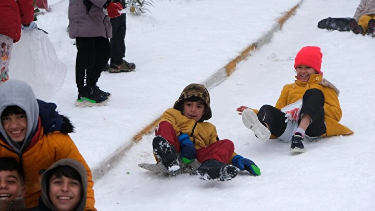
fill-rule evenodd
<path id="1" fill-rule="evenodd" d="M 258 139 L 266 141 L 271 137 L 270 130 L 259 121 L 257 114 L 253 110 L 243 110 L 242 122 L 247 128 L 254 131 Z"/>

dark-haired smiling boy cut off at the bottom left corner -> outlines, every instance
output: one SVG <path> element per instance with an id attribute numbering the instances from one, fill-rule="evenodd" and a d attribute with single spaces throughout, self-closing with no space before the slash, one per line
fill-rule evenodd
<path id="1" fill-rule="evenodd" d="M 0 210 L 24 211 L 25 184 L 20 164 L 15 158 L 0 157 Z"/>

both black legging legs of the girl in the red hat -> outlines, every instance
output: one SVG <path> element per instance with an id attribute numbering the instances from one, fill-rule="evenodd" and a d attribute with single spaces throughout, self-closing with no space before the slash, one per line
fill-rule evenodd
<path id="1" fill-rule="evenodd" d="M 310 137 L 318 137 L 326 133 L 326 124 L 324 123 L 324 95 L 319 89 L 308 89 L 302 98 L 301 114 L 308 114 L 311 117 L 311 124 L 306 129 L 305 134 Z M 272 135 L 280 137 L 287 123 L 285 113 L 276 109 L 272 105 L 263 105 L 258 112 L 259 121 L 269 126 Z M 300 124 L 299 119 L 298 124 Z"/>

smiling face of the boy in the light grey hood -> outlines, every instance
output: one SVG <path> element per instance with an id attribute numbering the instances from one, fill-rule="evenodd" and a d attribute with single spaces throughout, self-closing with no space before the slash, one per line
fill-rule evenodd
<path id="1" fill-rule="evenodd" d="M 27 132 L 26 114 L 10 114 L 1 118 L 6 134 L 15 142 L 25 140 Z"/>

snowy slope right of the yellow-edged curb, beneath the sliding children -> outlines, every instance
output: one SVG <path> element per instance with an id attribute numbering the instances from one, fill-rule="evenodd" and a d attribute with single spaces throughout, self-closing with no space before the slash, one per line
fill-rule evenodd
<path id="1" fill-rule="evenodd" d="M 154 163 L 150 135 L 135 145 L 116 169 L 96 182 L 97 207 L 119 211 L 374 210 L 371 52 L 375 43 L 372 38 L 350 32 L 317 28 L 323 18 L 352 16 L 358 3 L 305 0 L 271 44 L 254 53 L 228 80 L 210 90 L 210 122 L 216 125 L 221 139 L 233 140 L 236 152 L 258 164 L 261 176 L 243 173 L 228 182 L 215 182 L 190 175 L 155 175 L 137 167 L 138 163 Z M 341 91 L 341 123 L 355 134 L 306 143 L 305 154 L 292 156 L 287 143 L 257 140 L 243 126 L 236 107 L 275 104 L 282 86 L 293 83 L 293 59 L 305 45 L 322 48 L 324 76 Z M 181 90 L 180 86 L 169 86 L 176 93 L 160 96 L 172 104 Z"/>

